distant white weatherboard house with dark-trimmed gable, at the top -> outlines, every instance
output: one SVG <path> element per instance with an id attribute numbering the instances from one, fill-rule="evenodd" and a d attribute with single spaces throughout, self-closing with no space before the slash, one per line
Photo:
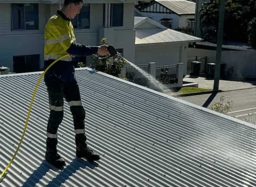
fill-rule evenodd
<path id="1" fill-rule="evenodd" d="M 155 0 L 140 12 L 170 29 L 190 27 L 195 23 L 196 3 L 186 0 Z"/>

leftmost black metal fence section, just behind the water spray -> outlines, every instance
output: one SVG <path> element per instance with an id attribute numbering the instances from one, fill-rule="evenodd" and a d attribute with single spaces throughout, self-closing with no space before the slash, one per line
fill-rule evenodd
<path id="1" fill-rule="evenodd" d="M 141 70 L 149 73 L 149 64 L 137 65 Z M 149 86 L 149 80 L 134 66 L 126 66 L 126 78 L 141 86 Z"/>

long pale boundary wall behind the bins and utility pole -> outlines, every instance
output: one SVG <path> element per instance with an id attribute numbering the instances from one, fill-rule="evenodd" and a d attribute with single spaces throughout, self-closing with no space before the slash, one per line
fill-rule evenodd
<path id="1" fill-rule="evenodd" d="M 189 48 L 188 58 L 207 56 L 207 63 L 216 62 L 216 51 Z M 252 51 L 222 51 L 221 63 L 225 63 L 224 72 L 227 73 L 234 66 L 233 78 L 256 78 L 256 52 Z"/>

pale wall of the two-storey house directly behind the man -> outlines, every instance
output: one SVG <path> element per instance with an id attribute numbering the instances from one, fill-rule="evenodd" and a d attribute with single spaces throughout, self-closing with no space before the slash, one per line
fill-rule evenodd
<path id="1" fill-rule="evenodd" d="M 111 2 L 120 3 L 117 0 Z M 0 3 L 0 43 L 4 44 L 0 46 L 1 66 L 9 67 L 10 71 L 13 71 L 13 56 L 40 54 L 40 67 L 43 69 L 44 28 L 50 16 L 56 13 L 59 6 L 59 4 L 39 4 L 38 30 L 12 30 L 11 3 Z M 78 43 L 99 45 L 102 38 L 100 36 L 104 36 L 100 35 L 102 17 L 102 4 L 90 4 L 90 29 L 74 29 Z M 134 3 L 124 3 L 123 20 L 123 27 L 111 28 L 113 38 L 109 44 L 114 45 L 117 49 L 122 48 L 124 58 L 133 62 L 135 58 Z M 88 56 L 87 61 L 90 64 L 92 57 Z"/>

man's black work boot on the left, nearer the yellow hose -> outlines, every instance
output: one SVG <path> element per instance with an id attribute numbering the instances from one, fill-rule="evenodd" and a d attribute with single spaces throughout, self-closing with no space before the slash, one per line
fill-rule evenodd
<path id="1" fill-rule="evenodd" d="M 66 165 L 65 160 L 57 152 L 57 138 L 47 138 L 46 139 L 46 153 L 45 160 L 55 166 L 56 168 L 61 168 Z"/>

